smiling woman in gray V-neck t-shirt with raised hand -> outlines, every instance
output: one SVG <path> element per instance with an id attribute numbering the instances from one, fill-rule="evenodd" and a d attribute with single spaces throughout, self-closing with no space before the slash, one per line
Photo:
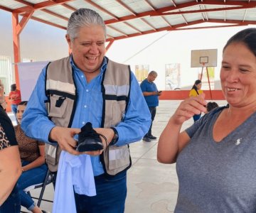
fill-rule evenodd
<path id="1" fill-rule="evenodd" d="M 176 162 L 174 212 L 256 212 L 256 28 L 233 35 L 223 48 L 220 82 L 228 105 L 205 112 L 205 94 L 176 110 L 159 138 L 157 158 Z M 218 195 L 218 196 L 216 196 Z"/>

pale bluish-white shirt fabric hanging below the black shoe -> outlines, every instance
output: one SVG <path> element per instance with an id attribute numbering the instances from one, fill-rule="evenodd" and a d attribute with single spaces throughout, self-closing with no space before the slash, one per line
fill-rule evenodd
<path id="1" fill-rule="evenodd" d="M 79 195 L 96 195 L 90 155 L 71 155 L 62 151 L 55 185 L 53 213 L 76 213 L 74 190 Z"/>

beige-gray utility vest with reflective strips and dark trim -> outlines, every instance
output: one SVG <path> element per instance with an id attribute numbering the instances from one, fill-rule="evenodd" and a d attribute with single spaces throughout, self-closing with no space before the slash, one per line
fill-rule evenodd
<path id="1" fill-rule="evenodd" d="M 108 60 L 108 59 L 107 59 Z M 46 108 L 56 126 L 71 127 L 75 114 L 76 85 L 70 57 L 50 62 L 46 68 Z M 102 128 L 117 126 L 127 110 L 131 86 L 129 66 L 108 60 L 102 75 Z M 59 146 L 46 144 L 46 163 L 50 171 L 58 170 Z M 108 146 L 100 155 L 105 173 L 116 175 L 132 165 L 129 146 Z"/>

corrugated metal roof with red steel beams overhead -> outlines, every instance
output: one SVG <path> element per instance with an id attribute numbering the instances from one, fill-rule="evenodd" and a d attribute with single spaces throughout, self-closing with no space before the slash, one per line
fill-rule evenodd
<path id="1" fill-rule="evenodd" d="M 107 40 L 159 31 L 256 24 L 256 0 L 1 0 L 0 9 L 65 29 L 70 14 L 90 8 L 107 25 Z M 196 26 L 198 28 L 198 26 Z"/>

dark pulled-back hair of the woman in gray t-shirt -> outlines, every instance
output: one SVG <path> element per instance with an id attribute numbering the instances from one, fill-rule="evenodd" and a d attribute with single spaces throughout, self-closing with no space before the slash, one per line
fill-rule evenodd
<path id="1" fill-rule="evenodd" d="M 256 28 L 247 28 L 233 35 L 223 48 L 223 52 L 231 43 L 245 44 L 247 48 L 256 56 Z"/>

